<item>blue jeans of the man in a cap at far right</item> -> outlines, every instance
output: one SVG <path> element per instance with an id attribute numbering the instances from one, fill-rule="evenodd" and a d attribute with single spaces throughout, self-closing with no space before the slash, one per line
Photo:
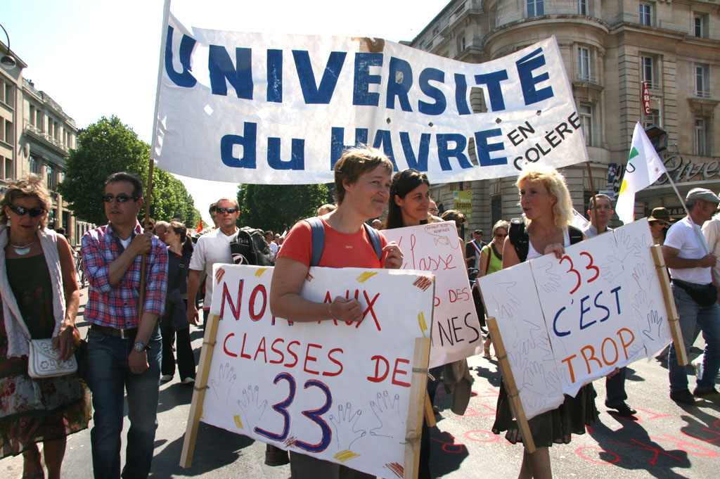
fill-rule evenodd
<path id="1" fill-rule="evenodd" d="M 672 295 L 675 297 L 675 308 L 678 308 L 680 315 L 680 331 L 683 331 L 685 351 L 690 352 L 690 346 L 696 338 L 696 326 L 700 328 L 705 339 L 705 357 L 696 381 L 697 388 L 699 390 L 714 388 L 720 368 L 720 308 L 717 303 L 703 308 L 683 288 L 674 284 Z M 670 346 L 667 368 L 670 375 L 670 392 L 688 389 L 688 372 L 685 366 L 678 364 L 675 345 Z"/>

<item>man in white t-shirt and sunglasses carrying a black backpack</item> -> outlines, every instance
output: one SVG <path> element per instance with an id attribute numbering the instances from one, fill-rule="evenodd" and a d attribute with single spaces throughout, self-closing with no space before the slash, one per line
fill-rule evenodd
<path id="1" fill-rule="evenodd" d="M 187 278 L 187 321 L 195 325 L 197 325 L 198 319 L 195 295 L 200 286 L 200 276 L 202 272 L 207 274 L 205 300 L 202 306 L 204 319 L 207 319 L 212 303 L 212 287 L 215 285 L 212 267 L 215 263 L 233 264 L 230 241 L 238 236 L 238 227 L 235 225 L 235 221 L 240 217 L 238 200 L 220 198 L 215 212 L 219 228 L 197 239 L 192 259 L 190 259 L 190 273 Z"/>

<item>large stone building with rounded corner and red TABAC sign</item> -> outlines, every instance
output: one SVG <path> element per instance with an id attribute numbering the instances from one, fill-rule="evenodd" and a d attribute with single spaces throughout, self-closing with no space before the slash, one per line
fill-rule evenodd
<path id="1" fill-rule="evenodd" d="M 661 153 L 681 194 L 720 189 L 720 9 L 716 0 L 453 0 L 408 45 L 459 61 L 482 63 L 555 35 L 590 158 L 562 170 L 573 205 L 588 208 L 596 192 L 624 168 L 636 122 L 667 131 Z M 650 96 L 641 103 L 642 82 Z M 471 97 L 472 100 L 472 97 Z M 482 94 L 474 98 L 482 111 Z M 474 152 L 469 152 L 472 156 Z M 588 170 L 590 173 L 588 173 Z M 431 179 L 432 181 L 432 179 Z M 514 178 L 433 187 L 444 209 L 455 191 L 472 192 L 469 229 L 521 215 Z M 636 195 L 635 217 L 665 206 L 679 218 L 680 200 L 667 179 Z M 619 221 L 613 221 L 619 225 Z"/>

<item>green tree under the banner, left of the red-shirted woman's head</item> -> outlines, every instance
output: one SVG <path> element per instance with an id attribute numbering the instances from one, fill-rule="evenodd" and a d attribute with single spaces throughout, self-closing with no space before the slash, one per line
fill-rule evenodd
<path id="1" fill-rule="evenodd" d="M 282 232 L 328 202 L 325 184 L 240 184 L 239 226 Z"/>

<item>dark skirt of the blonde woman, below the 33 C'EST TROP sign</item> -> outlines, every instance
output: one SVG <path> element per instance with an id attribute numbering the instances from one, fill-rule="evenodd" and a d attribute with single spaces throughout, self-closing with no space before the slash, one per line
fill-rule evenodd
<path id="1" fill-rule="evenodd" d="M 595 396 L 598 393 L 593 383 L 582 386 L 575 398 L 565 395 L 564 402 L 552 411 L 541 413 L 528 421 L 533 442 L 536 447 L 550 447 L 552 444 L 569 444 L 572 434 L 585 434 L 585 426 L 590 426 L 598 419 L 598 408 L 595 407 Z M 510 409 L 510 398 L 505 390 L 505 381 L 500 382 L 500 395 L 495 413 L 495 424 L 492 432 L 500 434 L 508 431 L 505 439 L 516 444 L 523 438 L 518 428 L 518 421 L 513 419 Z"/>

